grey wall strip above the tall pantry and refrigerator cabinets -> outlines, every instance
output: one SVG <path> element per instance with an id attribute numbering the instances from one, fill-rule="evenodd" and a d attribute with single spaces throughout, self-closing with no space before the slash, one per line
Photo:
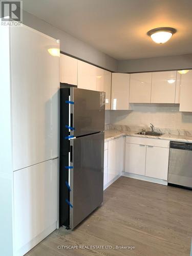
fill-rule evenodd
<path id="1" fill-rule="evenodd" d="M 116 59 L 98 51 L 85 42 L 53 27 L 44 20 L 41 20 L 26 11 L 23 12 L 23 23 L 42 33 L 56 39 L 60 39 L 60 50 L 62 52 L 68 53 L 82 60 L 86 60 L 101 68 L 108 69 L 110 71 L 117 71 Z"/>

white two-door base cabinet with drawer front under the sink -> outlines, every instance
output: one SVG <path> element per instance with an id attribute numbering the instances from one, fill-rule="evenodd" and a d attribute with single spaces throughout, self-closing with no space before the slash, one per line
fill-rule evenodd
<path id="1" fill-rule="evenodd" d="M 168 157 L 168 140 L 126 137 L 126 173 L 167 181 Z"/>

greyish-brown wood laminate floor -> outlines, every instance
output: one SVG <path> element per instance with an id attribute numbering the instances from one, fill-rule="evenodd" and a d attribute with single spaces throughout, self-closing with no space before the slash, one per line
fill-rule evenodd
<path id="1" fill-rule="evenodd" d="M 60 228 L 30 256 L 189 256 L 192 191 L 120 177 L 104 202 L 74 231 Z M 65 245 L 135 246 L 135 249 L 58 249 Z"/>

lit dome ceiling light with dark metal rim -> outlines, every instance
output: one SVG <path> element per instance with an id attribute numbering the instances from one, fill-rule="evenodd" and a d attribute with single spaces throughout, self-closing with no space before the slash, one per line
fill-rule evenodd
<path id="1" fill-rule="evenodd" d="M 174 28 L 156 28 L 147 32 L 147 35 L 152 38 L 157 44 L 164 44 L 167 42 L 173 34 L 177 32 Z"/>

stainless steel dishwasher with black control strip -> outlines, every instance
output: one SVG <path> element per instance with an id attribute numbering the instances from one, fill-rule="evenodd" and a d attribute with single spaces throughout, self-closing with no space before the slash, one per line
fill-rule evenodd
<path id="1" fill-rule="evenodd" d="M 192 143 L 170 142 L 168 184 L 192 188 Z"/>

